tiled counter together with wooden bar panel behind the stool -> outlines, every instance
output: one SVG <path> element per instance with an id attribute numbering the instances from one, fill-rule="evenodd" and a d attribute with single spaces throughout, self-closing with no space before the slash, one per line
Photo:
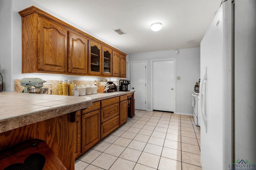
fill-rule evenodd
<path id="1" fill-rule="evenodd" d="M 77 115 L 93 102 L 133 94 L 87 96 L 0 93 L 0 153 L 31 139 L 45 141 L 68 170 L 74 170 Z"/>

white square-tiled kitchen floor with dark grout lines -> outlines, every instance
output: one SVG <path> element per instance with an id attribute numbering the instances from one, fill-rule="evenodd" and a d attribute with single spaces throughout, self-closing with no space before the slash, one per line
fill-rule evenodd
<path id="1" fill-rule="evenodd" d="M 200 127 L 192 116 L 135 112 L 79 156 L 75 170 L 202 170 Z"/>

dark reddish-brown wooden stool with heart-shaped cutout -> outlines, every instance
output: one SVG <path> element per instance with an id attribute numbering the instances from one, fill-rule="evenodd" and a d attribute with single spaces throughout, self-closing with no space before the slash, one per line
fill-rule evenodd
<path id="1" fill-rule="evenodd" d="M 0 152 L 0 170 L 66 170 L 46 142 L 32 139 Z"/>

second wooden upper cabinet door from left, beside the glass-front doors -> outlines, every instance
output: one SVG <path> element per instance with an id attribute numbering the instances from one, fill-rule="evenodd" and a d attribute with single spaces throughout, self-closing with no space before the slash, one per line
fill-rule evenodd
<path id="1" fill-rule="evenodd" d="M 88 39 L 79 33 L 68 31 L 68 72 L 87 74 Z"/>

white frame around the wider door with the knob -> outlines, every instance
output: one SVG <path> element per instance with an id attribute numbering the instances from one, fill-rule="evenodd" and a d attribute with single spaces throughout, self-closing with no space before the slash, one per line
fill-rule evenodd
<path id="1" fill-rule="evenodd" d="M 150 60 L 151 62 L 151 110 L 153 110 L 153 62 L 154 61 L 174 61 L 174 111 L 176 113 L 176 59 L 175 58 L 168 58 L 168 59 L 154 59 Z"/>

